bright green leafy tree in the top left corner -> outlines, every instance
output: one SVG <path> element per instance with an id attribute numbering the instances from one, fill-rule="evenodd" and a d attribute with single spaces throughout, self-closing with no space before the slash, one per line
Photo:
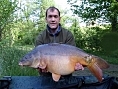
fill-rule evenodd
<path id="1" fill-rule="evenodd" d="M 0 41 L 5 26 L 13 20 L 10 17 L 14 13 L 16 7 L 16 0 L 14 0 L 14 2 L 11 0 L 0 1 Z"/>

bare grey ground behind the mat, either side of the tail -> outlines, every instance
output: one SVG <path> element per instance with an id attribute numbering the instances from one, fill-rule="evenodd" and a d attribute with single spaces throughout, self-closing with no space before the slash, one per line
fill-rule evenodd
<path id="1" fill-rule="evenodd" d="M 110 67 L 108 69 L 103 70 L 103 74 L 118 77 L 118 65 L 110 64 Z M 88 76 L 92 74 L 88 70 L 88 68 L 85 68 L 84 70 L 75 71 L 73 75 L 74 76 Z"/>

